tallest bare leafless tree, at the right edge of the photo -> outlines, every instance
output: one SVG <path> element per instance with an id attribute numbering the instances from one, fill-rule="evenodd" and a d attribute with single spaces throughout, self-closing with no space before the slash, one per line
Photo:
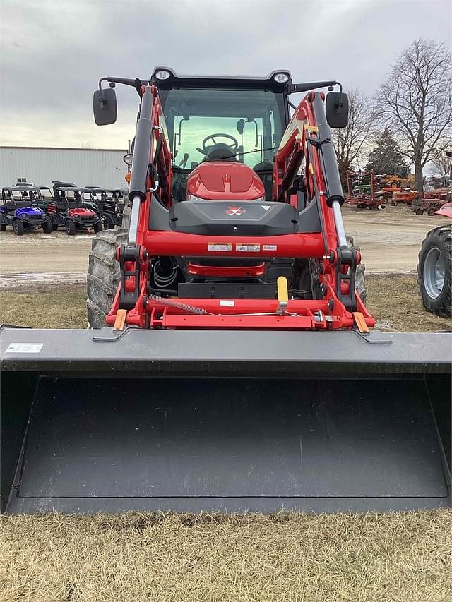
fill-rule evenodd
<path id="1" fill-rule="evenodd" d="M 422 191 L 425 164 L 444 154 L 444 139 L 450 136 L 451 87 L 448 47 L 421 38 L 398 56 L 380 88 L 383 120 L 415 166 L 417 191 Z"/>

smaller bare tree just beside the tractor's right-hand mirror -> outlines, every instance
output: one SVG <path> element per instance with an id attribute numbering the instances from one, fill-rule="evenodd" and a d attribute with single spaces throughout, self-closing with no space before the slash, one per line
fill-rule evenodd
<path id="1" fill-rule="evenodd" d="M 352 88 L 348 92 L 348 104 L 347 127 L 333 130 L 339 174 L 343 183 L 347 181 L 347 171 L 352 168 L 353 162 L 368 154 L 377 118 L 371 101 L 358 88 Z"/>

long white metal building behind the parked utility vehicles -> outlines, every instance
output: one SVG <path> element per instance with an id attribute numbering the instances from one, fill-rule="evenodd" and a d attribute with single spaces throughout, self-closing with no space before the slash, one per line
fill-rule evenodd
<path id="1" fill-rule="evenodd" d="M 77 186 L 125 188 L 127 150 L 0 146 L 0 187 L 17 181 L 52 186 L 52 180 Z"/>

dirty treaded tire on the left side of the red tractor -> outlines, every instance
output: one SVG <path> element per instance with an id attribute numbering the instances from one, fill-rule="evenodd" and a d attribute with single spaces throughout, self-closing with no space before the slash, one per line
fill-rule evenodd
<path id="1" fill-rule="evenodd" d="M 116 249 L 121 244 L 127 243 L 130 212 L 130 207 L 124 209 L 121 228 L 103 230 L 93 239 L 89 257 L 86 300 L 90 328 L 105 326 L 105 316 L 112 308 L 120 276 Z"/>

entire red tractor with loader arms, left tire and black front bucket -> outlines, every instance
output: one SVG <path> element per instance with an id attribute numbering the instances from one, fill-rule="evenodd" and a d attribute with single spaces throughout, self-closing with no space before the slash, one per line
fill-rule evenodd
<path id="1" fill-rule="evenodd" d="M 129 229 L 90 255 L 107 326 L 0 328 L 0 509 L 451 507 L 450 339 L 369 330 L 341 86 L 157 68 L 102 78 L 100 125 L 105 80 L 141 102 Z"/>

